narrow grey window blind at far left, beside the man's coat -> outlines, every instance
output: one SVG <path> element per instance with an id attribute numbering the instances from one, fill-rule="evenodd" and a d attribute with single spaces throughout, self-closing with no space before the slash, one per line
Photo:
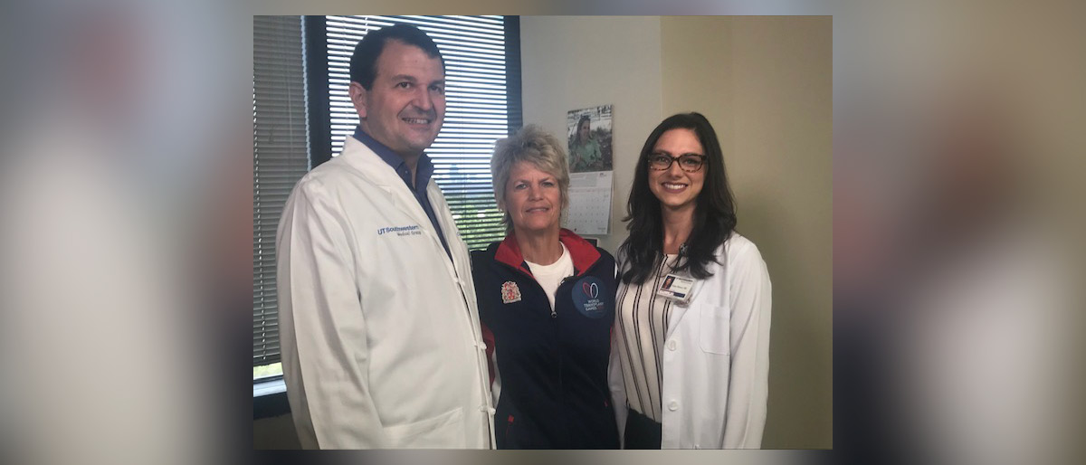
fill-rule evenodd
<path id="1" fill-rule="evenodd" d="M 253 16 L 253 366 L 279 361 L 275 236 L 310 168 L 300 16 Z"/>

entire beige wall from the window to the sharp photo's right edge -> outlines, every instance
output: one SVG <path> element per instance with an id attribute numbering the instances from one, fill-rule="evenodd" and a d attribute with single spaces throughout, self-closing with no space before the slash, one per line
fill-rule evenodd
<path id="1" fill-rule="evenodd" d="M 644 138 L 698 111 L 717 128 L 738 230 L 773 281 L 765 448 L 833 445 L 830 17 L 521 17 L 525 122 L 615 105 L 611 251 Z"/>

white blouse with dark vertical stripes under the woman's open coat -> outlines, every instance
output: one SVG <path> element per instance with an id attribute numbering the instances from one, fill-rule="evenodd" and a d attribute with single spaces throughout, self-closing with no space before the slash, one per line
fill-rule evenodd
<path id="1" fill-rule="evenodd" d="M 656 294 L 678 255 L 665 255 L 645 282 L 619 284 L 616 309 L 616 350 L 630 409 L 660 423 L 660 353 L 664 350 L 672 302 Z"/>

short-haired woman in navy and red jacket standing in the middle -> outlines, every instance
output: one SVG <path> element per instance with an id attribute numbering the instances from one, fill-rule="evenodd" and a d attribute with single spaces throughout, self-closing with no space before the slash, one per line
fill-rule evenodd
<path id="1" fill-rule="evenodd" d="M 491 159 L 506 238 L 471 253 L 497 449 L 617 449 L 607 363 L 615 259 L 559 227 L 569 169 L 528 126 Z"/>

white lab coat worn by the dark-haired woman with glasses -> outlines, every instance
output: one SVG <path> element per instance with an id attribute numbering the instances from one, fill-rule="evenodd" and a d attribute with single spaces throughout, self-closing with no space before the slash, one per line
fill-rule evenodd
<path id="1" fill-rule="evenodd" d="M 660 362 L 661 449 L 761 447 L 769 393 L 769 274 L 758 248 L 738 232 L 716 254 L 721 264 L 709 264 L 712 276 L 696 282 L 690 304 L 672 306 Z M 622 437 L 626 387 L 614 344 L 609 382 Z"/>

